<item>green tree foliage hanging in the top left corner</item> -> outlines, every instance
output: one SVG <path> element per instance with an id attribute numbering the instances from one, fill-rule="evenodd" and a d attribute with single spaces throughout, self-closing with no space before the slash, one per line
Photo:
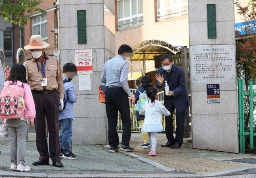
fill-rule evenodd
<path id="1" fill-rule="evenodd" d="M 37 8 L 41 0 L 0 0 L 0 17 L 14 24 L 27 24 L 31 16 L 24 16 L 24 13 L 36 13 L 45 11 Z"/>

